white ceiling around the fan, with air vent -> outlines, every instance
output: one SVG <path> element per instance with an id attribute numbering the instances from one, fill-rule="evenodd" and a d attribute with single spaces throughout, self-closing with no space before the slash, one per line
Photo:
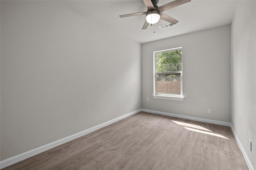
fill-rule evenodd
<path id="1" fill-rule="evenodd" d="M 158 6 L 172 1 L 159 0 Z M 146 12 L 147 8 L 142 0 L 63 0 L 62 2 L 139 43 L 230 24 L 237 4 L 236 0 L 192 0 L 163 12 L 179 21 L 175 26 L 160 29 L 159 25 L 167 23 L 160 20 L 152 26 L 148 25 L 146 30 L 142 30 L 144 15 L 119 17 L 124 14 Z"/>

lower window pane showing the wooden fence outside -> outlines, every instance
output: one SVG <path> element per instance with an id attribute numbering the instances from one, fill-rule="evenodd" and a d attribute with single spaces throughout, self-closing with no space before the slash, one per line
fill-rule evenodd
<path id="1" fill-rule="evenodd" d="M 180 73 L 158 74 L 156 81 L 157 94 L 178 94 L 180 95 Z"/>

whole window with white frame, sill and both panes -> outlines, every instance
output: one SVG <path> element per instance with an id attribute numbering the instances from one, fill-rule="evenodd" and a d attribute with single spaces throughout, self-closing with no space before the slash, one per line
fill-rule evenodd
<path id="1" fill-rule="evenodd" d="M 182 47 L 154 52 L 153 97 L 183 100 Z"/>

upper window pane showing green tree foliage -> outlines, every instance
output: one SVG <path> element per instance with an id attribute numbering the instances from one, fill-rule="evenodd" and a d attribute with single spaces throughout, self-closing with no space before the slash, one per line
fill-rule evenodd
<path id="1" fill-rule="evenodd" d="M 156 72 L 181 71 L 182 50 L 174 50 L 156 54 Z"/>

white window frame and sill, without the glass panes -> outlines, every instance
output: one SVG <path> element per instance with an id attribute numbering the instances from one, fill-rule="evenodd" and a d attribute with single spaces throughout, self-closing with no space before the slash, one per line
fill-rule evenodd
<path id="1" fill-rule="evenodd" d="M 153 98 L 155 99 L 166 99 L 166 100 L 179 100 L 179 101 L 182 101 L 184 99 L 184 96 L 183 96 L 183 90 L 182 90 L 182 71 L 183 71 L 183 58 L 182 58 L 182 55 L 181 55 L 181 71 L 172 71 L 172 72 L 164 72 L 164 73 L 156 73 L 156 54 L 157 53 L 164 53 L 164 52 L 168 52 L 168 51 L 176 51 L 176 50 L 182 50 L 182 47 L 177 47 L 177 48 L 173 48 L 173 49 L 166 49 L 166 50 L 161 50 L 161 51 L 154 51 L 154 66 L 153 66 L 153 70 L 154 70 L 154 95 Z M 177 73 L 180 73 L 180 95 L 175 95 L 175 94 L 157 94 L 157 91 L 156 91 L 156 82 L 157 82 L 157 74 L 177 74 Z"/>

